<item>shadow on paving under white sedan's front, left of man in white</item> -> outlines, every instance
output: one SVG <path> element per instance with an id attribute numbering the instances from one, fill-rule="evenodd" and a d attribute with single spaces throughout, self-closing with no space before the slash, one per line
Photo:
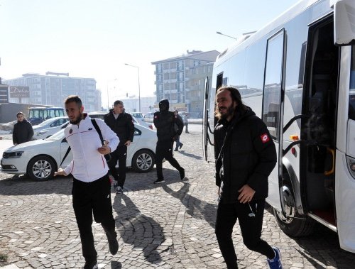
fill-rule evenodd
<path id="1" fill-rule="evenodd" d="M 72 177 L 53 177 L 38 182 L 30 177 L 9 177 L 0 180 L 1 195 L 72 194 Z"/>

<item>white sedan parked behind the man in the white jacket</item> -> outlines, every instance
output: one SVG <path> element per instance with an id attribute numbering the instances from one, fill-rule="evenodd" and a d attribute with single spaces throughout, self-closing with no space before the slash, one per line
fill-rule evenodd
<path id="1" fill-rule="evenodd" d="M 98 138 L 99 139 L 99 138 Z M 136 172 L 148 172 L 155 163 L 157 136 L 150 128 L 134 125 L 134 138 L 127 150 L 127 167 Z M 68 148 L 64 129 L 44 140 L 29 141 L 12 146 L 4 151 L 1 172 L 27 174 L 33 180 L 50 180 L 62 162 Z M 72 160 L 70 151 L 62 168 Z"/>

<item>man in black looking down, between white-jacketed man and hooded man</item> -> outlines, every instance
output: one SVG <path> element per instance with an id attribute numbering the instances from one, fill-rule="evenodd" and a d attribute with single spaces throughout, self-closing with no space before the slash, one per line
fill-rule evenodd
<path id="1" fill-rule="evenodd" d="M 119 137 L 119 146 L 110 153 L 111 160 L 108 165 L 115 180 L 116 193 L 122 193 L 126 180 L 127 147 L 133 142 L 133 119 L 131 114 L 124 111 L 124 102 L 117 100 L 114 101 L 114 108 L 104 116 L 104 121 Z M 119 160 L 119 175 L 116 171 L 117 160 Z"/>

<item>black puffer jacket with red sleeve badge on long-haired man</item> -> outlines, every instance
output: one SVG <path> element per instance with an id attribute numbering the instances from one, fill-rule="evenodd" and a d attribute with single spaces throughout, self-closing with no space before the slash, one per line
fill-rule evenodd
<path id="1" fill-rule="evenodd" d="M 268 197 L 268 176 L 277 155 L 265 123 L 251 109 L 239 112 L 231 122 L 218 121 L 214 143 L 221 201 L 237 202 L 239 189 L 246 184 L 256 191 L 253 199 Z"/>

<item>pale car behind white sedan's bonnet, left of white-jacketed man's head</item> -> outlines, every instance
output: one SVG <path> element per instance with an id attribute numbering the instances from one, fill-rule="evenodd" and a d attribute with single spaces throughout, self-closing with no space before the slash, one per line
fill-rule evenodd
<path id="1" fill-rule="evenodd" d="M 67 116 L 51 118 L 45 120 L 38 125 L 33 126 L 33 138 L 35 139 L 43 139 L 48 138 L 54 133 L 60 130 L 60 126 L 69 121 Z M 48 133 L 50 131 L 50 133 Z"/>

